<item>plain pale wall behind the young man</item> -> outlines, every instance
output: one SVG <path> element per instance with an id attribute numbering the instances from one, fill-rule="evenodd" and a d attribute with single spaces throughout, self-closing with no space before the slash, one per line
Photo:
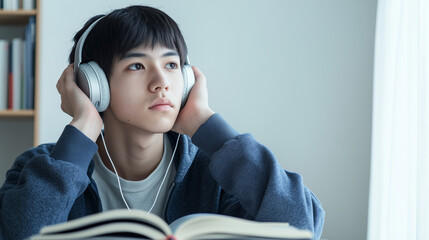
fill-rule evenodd
<path id="1" fill-rule="evenodd" d="M 326 210 L 323 238 L 365 239 L 376 1 L 42 0 L 40 142 L 70 121 L 55 84 L 91 16 L 130 3 L 180 25 L 209 101 L 297 171 Z"/>

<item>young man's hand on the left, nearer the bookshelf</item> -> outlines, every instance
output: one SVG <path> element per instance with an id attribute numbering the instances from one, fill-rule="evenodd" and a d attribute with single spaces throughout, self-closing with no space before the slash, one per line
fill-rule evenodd
<path id="1" fill-rule="evenodd" d="M 57 82 L 61 110 L 73 117 L 70 125 L 95 142 L 103 127 L 103 120 L 91 100 L 76 85 L 73 71 L 73 64 L 70 64 Z"/>

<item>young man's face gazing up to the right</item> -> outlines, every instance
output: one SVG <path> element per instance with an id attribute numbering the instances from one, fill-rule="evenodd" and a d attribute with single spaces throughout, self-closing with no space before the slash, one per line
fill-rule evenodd
<path id="1" fill-rule="evenodd" d="M 175 50 L 156 46 L 132 49 L 115 59 L 110 76 L 110 106 L 119 123 L 161 133 L 169 131 L 180 110 L 183 76 Z"/>

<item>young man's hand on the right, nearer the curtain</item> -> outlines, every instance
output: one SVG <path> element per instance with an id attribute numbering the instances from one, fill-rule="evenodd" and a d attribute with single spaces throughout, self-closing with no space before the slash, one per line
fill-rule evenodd
<path id="1" fill-rule="evenodd" d="M 172 129 L 190 137 L 214 114 L 208 103 L 206 77 L 197 67 L 193 66 L 192 70 L 195 84 Z"/>

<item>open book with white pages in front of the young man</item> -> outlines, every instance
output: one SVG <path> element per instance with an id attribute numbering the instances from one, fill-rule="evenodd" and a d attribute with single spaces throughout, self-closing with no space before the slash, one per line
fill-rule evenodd
<path id="1" fill-rule="evenodd" d="M 287 223 L 262 223 L 217 214 L 192 214 L 168 225 L 141 210 L 111 210 L 47 226 L 30 240 L 71 239 L 311 239 Z"/>

